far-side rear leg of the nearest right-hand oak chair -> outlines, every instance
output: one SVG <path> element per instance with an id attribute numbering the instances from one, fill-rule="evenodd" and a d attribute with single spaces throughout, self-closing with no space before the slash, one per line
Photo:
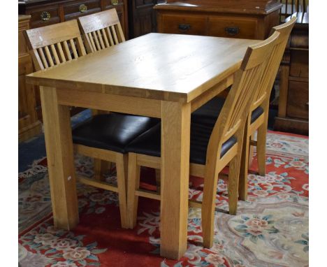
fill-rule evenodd
<path id="1" fill-rule="evenodd" d="M 228 205 L 229 205 L 229 214 L 231 215 L 235 215 L 236 211 L 238 210 L 238 180 L 240 175 L 240 161 L 241 161 L 241 157 L 239 156 L 239 154 L 236 154 L 236 156 L 229 163 Z M 245 189 L 247 191 L 247 187 L 245 187 Z M 245 192 L 245 189 L 243 190 L 243 193 Z"/>

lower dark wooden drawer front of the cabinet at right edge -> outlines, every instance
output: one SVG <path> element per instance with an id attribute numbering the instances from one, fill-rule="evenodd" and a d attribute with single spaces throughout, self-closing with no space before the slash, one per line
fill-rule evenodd
<path id="1" fill-rule="evenodd" d="M 309 119 L 309 83 L 289 82 L 289 95 L 287 97 L 287 115 L 300 119 Z"/>

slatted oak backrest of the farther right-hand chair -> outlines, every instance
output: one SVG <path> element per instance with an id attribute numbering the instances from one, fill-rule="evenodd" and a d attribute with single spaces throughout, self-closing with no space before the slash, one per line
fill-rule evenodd
<path id="1" fill-rule="evenodd" d="M 279 69 L 280 62 L 284 55 L 284 50 L 286 48 L 287 41 L 289 40 L 289 35 L 296 23 L 296 17 L 292 17 L 289 22 L 282 25 L 273 27 L 272 32 L 277 31 L 279 36 L 271 53 L 266 69 L 263 71 L 261 88 L 259 88 L 254 94 L 254 101 L 252 101 L 251 110 L 254 110 L 261 106 L 265 101 L 269 101 L 270 92 L 273 89 L 275 78 Z M 266 103 L 268 104 L 268 103 Z"/>

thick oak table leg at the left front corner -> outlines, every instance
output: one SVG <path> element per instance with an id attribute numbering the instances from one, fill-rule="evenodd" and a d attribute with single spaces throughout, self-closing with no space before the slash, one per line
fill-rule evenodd
<path id="1" fill-rule="evenodd" d="M 58 104 L 56 88 L 41 87 L 40 93 L 54 226 L 70 230 L 78 224 L 71 116 Z"/>

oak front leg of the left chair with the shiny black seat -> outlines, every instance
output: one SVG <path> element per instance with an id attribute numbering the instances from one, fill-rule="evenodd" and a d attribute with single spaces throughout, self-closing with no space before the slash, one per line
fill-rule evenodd
<path id="1" fill-rule="evenodd" d="M 128 154 L 117 154 L 116 158 L 117 168 L 117 187 L 119 198 L 120 219 L 122 228 L 129 228 L 129 220 L 127 218 L 127 204 L 126 204 L 126 180 L 128 170 Z"/>

